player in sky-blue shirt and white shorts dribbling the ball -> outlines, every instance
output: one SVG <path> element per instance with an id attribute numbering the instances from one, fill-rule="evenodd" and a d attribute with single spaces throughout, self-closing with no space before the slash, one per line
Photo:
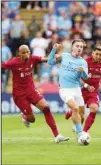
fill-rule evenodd
<path id="1" fill-rule="evenodd" d="M 80 78 L 88 78 L 88 66 L 81 57 L 84 45 L 85 42 L 82 39 L 73 40 L 71 54 L 67 52 L 56 54 L 56 51 L 60 49 L 60 45 L 55 44 L 48 58 L 50 65 L 60 61 L 59 94 L 61 99 L 72 110 L 72 120 L 77 129 L 78 138 L 85 134 L 79 114 L 79 106 L 84 106 Z"/>

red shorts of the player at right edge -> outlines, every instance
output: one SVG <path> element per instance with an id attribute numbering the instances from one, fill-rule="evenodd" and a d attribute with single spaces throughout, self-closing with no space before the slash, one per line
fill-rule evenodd
<path id="1" fill-rule="evenodd" d="M 82 95 L 83 95 L 85 104 L 87 104 L 87 107 L 92 103 L 99 104 L 98 93 L 93 93 L 93 92 L 88 92 L 88 91 L 82 90 Z"/>

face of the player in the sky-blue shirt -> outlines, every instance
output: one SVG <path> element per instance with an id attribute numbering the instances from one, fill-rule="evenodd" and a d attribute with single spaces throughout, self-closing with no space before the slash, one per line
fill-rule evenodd
<path id="1" fill-rule="evenodd" d="M 83 53 L 83 42 L 75 42 L 72 46 L 72 51 L 75 53 L 75 56 L 81 56 Z"/>

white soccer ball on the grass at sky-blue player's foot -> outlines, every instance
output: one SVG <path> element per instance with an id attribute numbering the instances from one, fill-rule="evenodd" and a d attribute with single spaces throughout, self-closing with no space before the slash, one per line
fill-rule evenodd
<path id="1" fill-rule="evenodd" d="M 80 144 L 80 145 L 88 145 L 90 141 L 91 141 L 90 135 L 86 132 L 84 132 L 78 138 L 78 144 Z"/>

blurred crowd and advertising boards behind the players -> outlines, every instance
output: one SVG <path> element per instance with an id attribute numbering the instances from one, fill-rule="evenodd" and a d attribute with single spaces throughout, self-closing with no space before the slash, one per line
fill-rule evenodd
<path id="1" fill-rule="evenodd" d="M 76 38 L 87 43 L 84 58 L 91 55 L 96 43 L 101 44 L 101 2 L 2 2 L 2 62 L 16 56 L 21 44 L 27 44 L 33 55 L 48 56 L 54 43 L 61 43 L 65 51 L 70 51 L 71 41 Z M 36 86 L 53 113 L 67 110 L 58 94 L 58 67 L 37 64 L 33 73 Z M 11 95 L 12 74 L 4 70 L 1 73 L 2 113 L 19 113 Z M 99 96 L 101 113 L 101 86 Z"/>

